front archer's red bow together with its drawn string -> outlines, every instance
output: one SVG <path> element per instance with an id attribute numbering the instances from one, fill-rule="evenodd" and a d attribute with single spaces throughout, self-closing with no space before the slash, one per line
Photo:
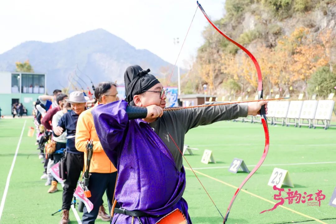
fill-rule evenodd
<path id="1" fill-rule="evenodd" d="M 204 14 L 205 18 L 208 20 L 208 22 L 211 24 L 211 26 L 213 28 L 215 28 L 223 37 L 225 37 L 227 40 L 229 40 L 230 42 L 234 43 L 236 46 L 238 46 L 240 49 L 242 49 L 253 61 L 254 63 L 254 66 L 257 70 L 257 74 L 258 74 L 258 97 L 259 97 L 259 100 L 262 100 L 263 99 L 263 85 L 262 85 L 262 75 L 261 75 L 261 70 L 260 70 L 260 66 L 257 62 L 257 60 L 255 59 L 255 57 L 253 56 L 253 54 L 248 51 L 245 47 L 243 47 L 242 45 L 240 45 L 239 43 L 237 43 L 236 41 L 232 40 L 231 38 L 229 38 L 228 36 L 226 36 L 219 28 L 217 28 L 214 23 L 211 21 L 211 19 L 209 18 L 209 16 L 206 14 L 206 12 L 204 11 L 203 7 L 201 6 L 201 4 L 199 4 L 199 2 L 197 1 L 197 8 L 200 8 L 200 10 L 202 11 L 202 13 Z M 197 10 L 197 9 L 196 9 Z M 195 11 L 195 14 L 196 14 L 196 11 Z M 195 17 L 195 14 L 194 14 L 194 17 Z M 191 24 L 193 23 L 193 20 L 194 20 L 194 17 L 192 19 L 192 22 Z M 191 27 L 191 24 L 190 24 L 190 27 Z M 188 35 L 188 32 L 190 30 L 190 27 L 187 31 L 187 34 L 186 36 Z M 186 39 L 186 36 L 184 38 L 184 41 L 182 43 L 182 46 L 181 46 L 181 49 L 180 49 L 180 52 L 177 56 L 177 59 L 175 61 L 175 64 L 174 64 L 174 67 L 172 69 L 172 72 L 170 74 L 170 77 L 168 79 L 168 83 L 170 81 L 170 78 L 174 72 L 174 68 L 176 66 L 176 62 L 178 60 L 178 57 L 181 53 L 181 50 L 182 50 L 182 47 L 183 47 L 183 44 L 185 42 L 185 39 Z M 168 87 L 168 83 L 166 85 L 166 89 Z M 179 108 L 178 108 L 179 109 Z M 227 221 L 227 218 L 228 218 L 228 215 L 229 215 L 229 212 L 231 210 L 231 207 L 233 205 L 233 202 L 235 201 L 238 193 L 240 192 L 240 190 L 242 189 L 242 187 L 245 185 L 245 183 L 250 179 L 250 177 L 259 169 L 259 167 L 261 166 L 261 164 L 264 162 L 265 158 L 266 158 L 266 155 L 267 155 L 267 152 L 268 152 L 268 147 L 269 147 L 269 132 L 268 132 L 268 124 L 267 124 L 267 118 L 266 118 L 266 111 L 265 111 L 265 107 L 262 106 L 261 109 L 260 109 L 260 116 L 261 116 L 261 122 L 262 122 L 262 125 L 263 125 L 263 128 L 264 128 L 264 132 L 265 132 L 265 147 L 264 147 L 264 151 L 263 151 L 263 154 L 261 156 L 261 159 L 259 160 L 258 164 L 254 167 L 254 169 L 251 171 L 251 173 L 249 173 L 249 175 L 243 180 L 243 182 L 240 184 L 240 186 L 238 187 L 238 189 L 236 190 L 233 198 L 231 199 L 230 201 L 230 204 L 227 208 L 227 211 L 226 211 L 226 214 L 225 214 L 225 218 L 222 216 L 222 214 L 220 213 L 219 209 L 217 208 L 217 206 L 215 205 L 214 201 L 212 200 L 211 196 L 209 195 L 209 193 L 207 192 L 207 190 L 205 189 L 205 187 L 203 186 L 203 184 L 201 183 L 201 181 L 199 180 L 199 178 L 197 177 L 196 173 L 194 172 L 194 170 L 192 169 L 192 167 L 190 166 L 190 164 L 188 163 L 188 161 L 185 159 L 182 151 L 179 149 L 179 147 L 177 146 L 177 144 L 175 143 L 174 139 L 172 138 L 172 136 L 169 134 L 168 132 L 168 135 L 169 137 L 172 139 L 173 143 L 175 144 L 175 146 L 177 147 L 177 149 L 179 150 L 179 152 L 182 154 L 184 160 L 187 162 L 188 166 L 190 167 L 190 169 L 192 170 L 192 172 L 194 173 L 194 175 L 196 176 L 196 178 L 198 179 L 198 181 L 200 182 L 200 184 L 202 185 L 203 189 L 205 190 L 205 192 L 207 193 L 207 195 L 209 196 L 209 198 L 211 199 L 212 203 L 214 204 L 214 206 L 216 207 L 217 211 L 219 212 L 219 214 L 222 216 L 223 218 L 223 223 L 225 224 L 225 222 Z"/>

